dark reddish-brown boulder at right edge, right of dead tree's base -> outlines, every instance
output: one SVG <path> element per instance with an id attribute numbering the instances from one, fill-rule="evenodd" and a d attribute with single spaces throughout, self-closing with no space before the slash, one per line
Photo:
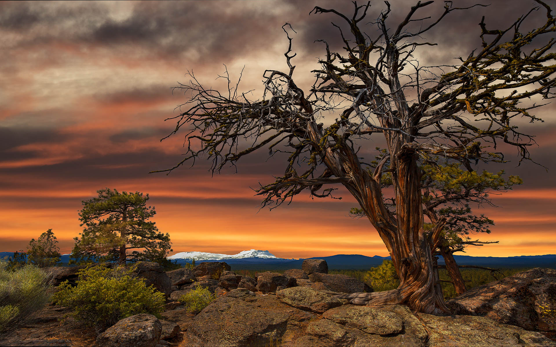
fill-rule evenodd
<path id="1" fill-rule="evenodd" d="M 448 306 L 454 314 L 485 316 L 556 336 L 556 270 L 524 271 L 470 289 Z"/>

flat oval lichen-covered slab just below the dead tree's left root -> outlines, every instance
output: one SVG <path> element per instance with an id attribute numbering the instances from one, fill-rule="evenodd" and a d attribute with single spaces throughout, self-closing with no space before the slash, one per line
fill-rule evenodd
<path id="1" fill-rule="evenodd" d="M 398 334 L 404 327 L 399 315 L 370 306 L 340 306 L 327 310 L 322 318 L 376 335 Z"/>

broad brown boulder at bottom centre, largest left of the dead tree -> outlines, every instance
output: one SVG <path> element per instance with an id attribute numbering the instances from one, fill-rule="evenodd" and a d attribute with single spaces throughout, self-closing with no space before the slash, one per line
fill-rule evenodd
<path id="1" fill-rule="evenodd" d="M 288 345 L 301 333 L 304 322 L 316 319 L 314 314 L 282 303 L 275 295 L 252 296 L 246 289 L 232 291 L 236 297 L 221 296 L 193 317 L 184 336 L 187 346 L 266 346 L 278 345 L 278 341 Z"/>

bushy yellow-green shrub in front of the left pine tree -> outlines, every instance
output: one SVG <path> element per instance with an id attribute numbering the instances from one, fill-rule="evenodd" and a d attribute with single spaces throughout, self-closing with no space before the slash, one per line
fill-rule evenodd
<path id="1" fill-rule="evenodd" d="M 63 282 L 53 301 L 71 308 L 73 318 L 82 323 L 103 328 L 139 313 L 161 318 L 164 294 L 136 278 L 133 266 L 91 266 L 78 271 L 76 284 Z"/>

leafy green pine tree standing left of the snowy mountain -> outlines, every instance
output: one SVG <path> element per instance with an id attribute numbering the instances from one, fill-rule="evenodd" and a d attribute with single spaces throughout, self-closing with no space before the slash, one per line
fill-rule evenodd
<path id="1" fill-rule="evenodd" d="M 147 206 L 148 194 L 118 192 L 116 189 L 97 190 L 98 197 L 83 201 L 79 212 L 81 239 L 71 257 L 126 261 L 148 260 L 162 262 L 170 249 L 170 235 L 158 232 L 150 219 L 155 208 Z M 129 252 L 128 252 L 129 251 Z M 74 260 L 75 261 L 75 260 Z"/>

